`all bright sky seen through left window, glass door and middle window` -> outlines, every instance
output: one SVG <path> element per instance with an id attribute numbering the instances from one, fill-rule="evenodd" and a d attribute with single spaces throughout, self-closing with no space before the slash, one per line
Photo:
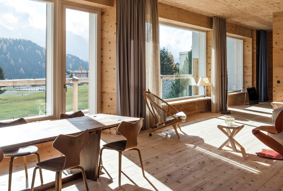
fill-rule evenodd
<path id="1" fill-rule="evenodd" d="M 67 9 L 66 18 L 66 30 L 88 41 L 88 13 Z M 46 4 L 26 0 L 0 0 L 0 25 L 9 29 L 5 34 L 0 31 L 0 36 L 7 37 L 8 34 L 11 38 L 30 39 L 45 47 Z M 160 25 L 159 30 L 160 47 L 171 51 L 175 63 L 179 63 L 179 52 L 191 50 L 192 32 L 166 25 Z M 43 35 L 37 37 L 35 34 L 39 33 Z"/>

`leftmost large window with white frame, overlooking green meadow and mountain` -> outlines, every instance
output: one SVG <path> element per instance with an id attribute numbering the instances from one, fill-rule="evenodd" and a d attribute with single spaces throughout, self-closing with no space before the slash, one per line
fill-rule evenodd
<path id="1" fill-rule="evenodd" d="M 0 120 L 52 116 L 52 3 L 3 0 L 0 10 L 0 80 L 10 80 Z"/>

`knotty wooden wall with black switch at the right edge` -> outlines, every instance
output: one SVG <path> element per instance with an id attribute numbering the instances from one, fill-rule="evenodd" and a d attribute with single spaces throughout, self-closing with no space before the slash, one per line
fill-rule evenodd
<path id="1" fill-rule="evenodd" d="M 283 101 L 283 12 L 273 13 L 273 102 Z M 277 83 L 280 80 L 280 83 Z"/>

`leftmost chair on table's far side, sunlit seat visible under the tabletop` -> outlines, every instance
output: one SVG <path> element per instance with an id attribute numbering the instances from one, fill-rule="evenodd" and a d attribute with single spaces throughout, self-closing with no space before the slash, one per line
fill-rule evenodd
<path id="1" fill-rule="evenodd" d="M 24 118 L 20 118 L 14 120 L 9 123 L 0 122 L 0 128 L 2 127 L 9 127 L 9 126 L 16 126 L 21 124 L 27 124 L 27 121 Z M 13 170 L 13 160 L 18 157 L 23 157 L 23 162 L 25 166 L 25 176 L 27 177 L 27 156 L 29 155 L 36 155 L 37 161 L 40 162 L 40 156 L 37 152 L 38 148 L 36 146 L 28 146 L 26 148 L 17 148 L 12 150 L 3 151 L 4 157 L 10 157 L 9 162 L 9 181 L 8 181 L 8 191 L 11 190 L 11 183 L 12 183 L 12 170 Z M 43 184 L 42 172 L 39 171 L 40 181 Z"/>

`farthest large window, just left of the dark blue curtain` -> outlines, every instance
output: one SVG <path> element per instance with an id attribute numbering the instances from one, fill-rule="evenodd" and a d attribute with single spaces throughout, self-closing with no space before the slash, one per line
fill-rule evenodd
<path id="1" fill-rule="evenodd" d="M 227 37 L 228 91 L 243 86 L 243 40 Z"/>

